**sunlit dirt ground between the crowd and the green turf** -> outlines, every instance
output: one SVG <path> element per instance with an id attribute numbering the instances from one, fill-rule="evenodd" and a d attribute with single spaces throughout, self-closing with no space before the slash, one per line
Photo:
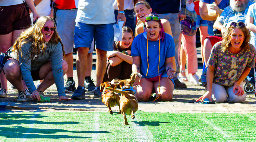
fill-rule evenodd
<path id="1" fill-rule="evenodd" d="M 198 70 L 198 76 L 201 76 L 202 69 Z M 64 77 L 66 79 L 66 76 Z M 188 77 L 189 78 L 189 77 Z M 95 70 L 92 71 L 92 79 L 96 80 Z M 74 70 L 74 81 L 77 83 L 77 74 Z M 37 83 L 36 81 L 34 82 Z M 94 82 L 96 84 L 96 82 Z M 186 89 L 175 89 L 172 101 L 160 102 L 160 101 L 149 101 L 139 102 L 138 110 L 145 112 L 180 112 L 180 113 L 201 113 L 201 112 L 217 112 L 217 113 L 255 113 L 256 102 L 254 94 L 247 94 L 245 103 L 223 103 L 223 104 L 201 104 L 195 102 L 197 98 L 205 93 L 204 87 L 200 85 L 194 85 L 189 81 L 185 81 Z M 9 83 L 8 83 L 9 84 Z M 76 85 L 77 86 L 77 85 Z M 102 103 L 100 98 L 93 98 L 93 93 L 86 92 L 86 98 L 82 100 L 71 100 L 71 101 L 58 101 L 58 95 L 56 86 L 52 85 L 45 92 L 47 97 L 51 98 L 49 103 L 39 103 L 36 100 L 27 99 L 27 102 L 17 102 L 17 92 L 8 92 L 7 98 L 0 98 L 0 105 L 17 106 L 17 107 L 48 107 L 41 109 L 41 111 L 57 111 L 56 109 L 67 109 L 62 111 L 108 111 L 107 107 Z M 67 97 L 71 98 L 73 93 L 66 93 Z M 193 103 L 188 103 L 188 101 Z M 49 109 L 55 108 L 55 109 Z M 112 108 L 113 111 L 118 111 L 119 107 L 115 106 Z M 11 110 L 20 111 L 20 110 Z"/>

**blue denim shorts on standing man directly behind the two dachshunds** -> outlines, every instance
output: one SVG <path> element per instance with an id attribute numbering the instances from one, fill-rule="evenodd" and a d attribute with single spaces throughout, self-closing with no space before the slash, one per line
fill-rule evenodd
<path id="1" fill-rule="evenodd" d="M 74 48 L 90 48 L 94 37 L 97 49 L 105 51 L 113 50 L 114 24 L 115 23 L 94 25 L 76 22 L 74 30 Z"/>

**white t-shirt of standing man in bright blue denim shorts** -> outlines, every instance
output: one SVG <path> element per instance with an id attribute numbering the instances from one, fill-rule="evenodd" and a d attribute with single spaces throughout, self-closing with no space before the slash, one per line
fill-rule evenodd
<path id="1" fill-rule="evenodd" d="M 85 24 L 115 23 L 113 0 L 79 0 L 76 22 Z"/>

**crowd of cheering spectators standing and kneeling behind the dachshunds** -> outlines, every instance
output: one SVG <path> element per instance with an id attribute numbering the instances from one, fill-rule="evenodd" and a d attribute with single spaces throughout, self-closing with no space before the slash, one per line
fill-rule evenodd
<path id="1" fill-rule="evenodd" d="M 209 16 L 210 9 L 215 15 Z M 244 102 L 242 81 L 255 67 L 253 0 L 9 0 L 0 1 L 0 15 L 0 52 L 9 55 L 0 74 L 0 98 L 8 96 L 7 80 L 19 92 L 17 101 L 39 101 L 53 83 L 60 101 L 81 100 L 86 91 L 101 98 L 102 82 L 137 72 L 142 75 L 134 83 L 138 101 L 171 101 L 175 88 L 201 80 L 196 35 L 182 32 L 183 20 L 200 30 L 207 92 L 197 101 Z M 119 21 L 122 41 L 114 41 Z M 96 84 L 90 77 L 94 50 Z M 33 80 L 40 82 L 36 86 Z M 74 94 L 69 99 L 65 92 Z"/>

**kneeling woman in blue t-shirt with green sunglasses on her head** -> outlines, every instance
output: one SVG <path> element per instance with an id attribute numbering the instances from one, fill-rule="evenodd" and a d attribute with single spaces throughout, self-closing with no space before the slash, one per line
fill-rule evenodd
<path id="1" fill-rule="evenodd" d="M 171 101 L 175 76 L 175 44 L 171 35 L 164 33 L 160 18 L 148 15 L 145 32 L 134 38 L 131 47 L 132 71 L 142 78 L 134 83 L 138 101 L 148 101 L 153 90 L 160 93 L 159 101 Z"/>

